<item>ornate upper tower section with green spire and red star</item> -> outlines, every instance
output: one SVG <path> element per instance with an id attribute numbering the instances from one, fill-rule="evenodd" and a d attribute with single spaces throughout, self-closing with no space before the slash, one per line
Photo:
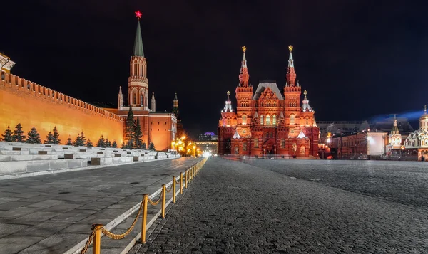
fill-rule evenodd
<path id="1" fill-rule="evenodd" d="M 128 105 L 148 110 L 147 62 L 144 57 L 143 39 L 141 38 L 140 11 L 136 12 L 136 16 L 138 23 L 128 78 Z"/>

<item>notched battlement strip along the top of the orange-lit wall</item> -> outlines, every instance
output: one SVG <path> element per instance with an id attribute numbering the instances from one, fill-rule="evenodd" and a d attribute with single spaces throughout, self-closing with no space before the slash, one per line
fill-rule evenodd
<path id="1" fill-rule="evenodd" d="M 101 107 L 96 107 L 87 102 L 83 102 L 82 100 L 64 95 L 61 92 L 46 88 L 42 85 L 26 80 L 25 78 L 20 78 L 19 76 L 6 73 L 4 71 L 1 71 L 0 89 L 10 90 L 21 95 L 38 97 L 40 100 L 47 100 L 61 105 L 67 105 L 75 110 L 82 110 L 94 115 L 106 117 L 110 120 L 123 122 L 123 117 L 112 112 L 108 112 L 107 110 L 103 110 Z"/>

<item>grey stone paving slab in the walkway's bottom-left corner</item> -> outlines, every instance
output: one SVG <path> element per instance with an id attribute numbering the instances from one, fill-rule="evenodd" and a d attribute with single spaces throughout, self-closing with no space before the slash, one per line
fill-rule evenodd
<path id="1" fill-rule="evenodd" d="M 39 236 L 6 236 L 0 238 L 0 250 L 4 254 L 18 253 L 43 239 L 44 237 Z"/>

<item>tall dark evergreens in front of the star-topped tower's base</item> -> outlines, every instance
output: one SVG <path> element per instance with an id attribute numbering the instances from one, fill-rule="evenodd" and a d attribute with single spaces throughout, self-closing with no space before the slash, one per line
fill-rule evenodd
<path id="1" fill-rule="evenodd" d="M 127 142 L 126 144 L 122 143 L 122 148 L 147 149 L 146 142 L 141 140 L 143 131 L 141 130 L 140 117 L 137 117 L 136 121 L 134 121 L 133 117 L 132 107 L 129 107 L 125 127 L 125 139 Z M 150 144 L 148 144 L 148 149 L 155 150 L 155 144 L 150 142 Z"/>

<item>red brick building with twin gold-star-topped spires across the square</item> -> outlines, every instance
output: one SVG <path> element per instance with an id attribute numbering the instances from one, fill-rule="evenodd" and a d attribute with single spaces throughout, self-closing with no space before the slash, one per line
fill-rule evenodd
<path id="1" fill-rule="evenodd" d="M 249 82 L 245 47 L 239 84 L 235 89 L 236 110 L 230 92 L 218 122 L 218 154 L 264 157 L 317 157 L 319 129 L 315 111 L 307 100 L 300 103 L 302 88 L 296 80 L 292 46 L 289 47 L 287 82 L 281 93 L 275 81 L 263 81 L 253 92 Z"/>

